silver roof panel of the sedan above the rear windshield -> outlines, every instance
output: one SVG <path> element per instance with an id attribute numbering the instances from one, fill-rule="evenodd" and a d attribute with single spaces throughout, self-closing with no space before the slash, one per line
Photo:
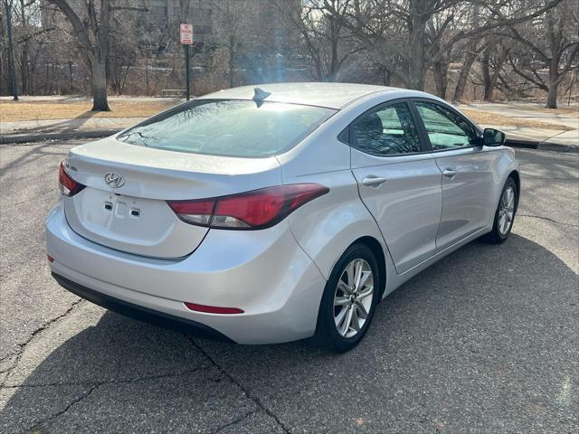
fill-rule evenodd
<path id="1" fill-rule="evenodd" d="M 341 109 L 356 99 L 376 92 L 392 92 L 395 94 L 403 91 L 404 97 L 424 95 L 423 92 L 414 90 L 387 88 L 371 84 L 302 82 L 242 86 L 240 88 L 219 90 L 199 97 L 198 99 L 252 99 L 255 88 L 271 92 L 271 95 L 264 99 L 266 101 L 306 104 L 309 106 L 327 107 L 329 109 Z"/>

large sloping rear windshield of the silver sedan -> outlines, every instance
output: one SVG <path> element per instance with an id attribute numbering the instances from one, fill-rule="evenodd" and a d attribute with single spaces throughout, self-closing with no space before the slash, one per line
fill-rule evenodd
<path id="1" fill-rule="evenodd" d="M 117 137 L 132 145 L 214 156 L 273 156 L 296 146 L 336 110 L 281 102 L 202 99 Z"/>

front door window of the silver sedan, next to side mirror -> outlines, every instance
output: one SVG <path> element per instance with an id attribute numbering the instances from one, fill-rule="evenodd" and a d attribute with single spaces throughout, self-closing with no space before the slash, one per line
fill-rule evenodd
<path id="1" fill-rule="evenodd" d="M 476 132 L 470 123 L 450 109 L 425 101 L 414 104 L 431 140 L 432 150 L 471 146 L 476 139 Z"/>

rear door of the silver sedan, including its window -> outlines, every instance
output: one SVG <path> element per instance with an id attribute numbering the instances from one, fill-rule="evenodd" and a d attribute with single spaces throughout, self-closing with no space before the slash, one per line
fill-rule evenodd
<path id="1" fill-rule="evenodd" d="M 371 109 L 349 127 L 352 172 L 403 273 L 436 250 L 441 171 L 421 143 L 405 100 Z"/>

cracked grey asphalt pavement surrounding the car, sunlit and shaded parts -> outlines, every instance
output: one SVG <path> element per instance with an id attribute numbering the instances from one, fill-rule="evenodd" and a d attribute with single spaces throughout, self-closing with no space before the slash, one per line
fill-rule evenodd
<path id="1" fill-rule="evenodd" d="M 0 432 L 579 432 L 576 154 L 517 151 L 511 238 L 423 271 L 336 355 L 197 340 L 60 288 L 43 219 L 77 143 L 0 146 Z"/>

